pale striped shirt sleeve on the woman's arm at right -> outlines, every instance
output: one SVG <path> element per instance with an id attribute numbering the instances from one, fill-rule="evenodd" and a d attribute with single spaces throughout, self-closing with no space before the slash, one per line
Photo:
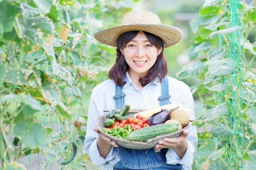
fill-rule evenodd
<path id="1" fill-rule="evenodd" d="M 194 108 L 194 100 L 192 93 L 189 89 L 189 87 L 186 85 L 186 88 L 184 88 L 184 99 L 182 102 L 183 106 L 187 106 L 190 108 Z M 188 112 L 188 117 L 190 119 L 196 119 L 195 118 L 195 110 Z M 166 153 L 166 163 L 167 164 L 182 164 L 182 165 L 192 165 L 193 164 L 193 154 L 194 151 L 197 148 L 198 138 L 197 138 L 197 131 L 196 127 L 190 125 L 188 128 L 189 134 L 187 136 L 188 141 L 188 149 L 186 150 L 185 155 L 182 159 L 176 154 L 174 149 L 168 149 Z"/>

